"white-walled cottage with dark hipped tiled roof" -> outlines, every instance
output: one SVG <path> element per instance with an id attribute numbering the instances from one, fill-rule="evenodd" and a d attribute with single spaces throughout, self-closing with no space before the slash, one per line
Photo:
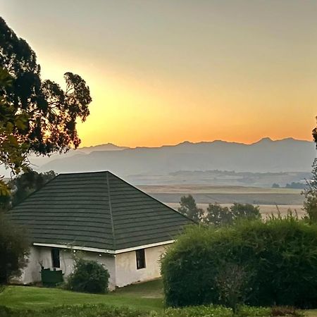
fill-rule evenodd
<path id="1" fill-rule="evenodd" d="M 73 271 L 73 253 L 103 263 L 111 289 L 160 276 L 159 258 L 192 223 L 110 172 L 61 174 L 9 212 L 30 232 L 20 281 L 41 280 L 41 267 Z"/>

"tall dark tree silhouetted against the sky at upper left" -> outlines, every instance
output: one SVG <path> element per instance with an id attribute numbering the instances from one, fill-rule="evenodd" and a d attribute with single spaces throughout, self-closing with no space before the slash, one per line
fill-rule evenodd
<path id="1" fill-rule="evenodd" d="M 11 77 L 11 85 L 1 85 L 1 97 L 14 115 L 21 116 L 21 123 L 10 126 L 11 141 L 23 146 L 25 153 L 46 155 L 67 151 L 70 146 L 77 148 L 80 139 L 76 120 L 86 120 L 92 101 L 85 80 L 65 73 L 65 91 L 51 80 L 42 80 L 35 51 L 17 37 L 2 18 L 0 68 Z M 2 148 L 1 152 L 4 152 Z M 10 165 L 10 161 L 1 156 L 0 159 Z"/>

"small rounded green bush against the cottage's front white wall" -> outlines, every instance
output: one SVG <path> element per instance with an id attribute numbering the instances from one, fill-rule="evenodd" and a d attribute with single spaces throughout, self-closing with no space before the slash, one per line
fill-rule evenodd
<path id="1" fill-rule="evenodd" d="M 108 292 L 109 273 L 97 261 L 75 259 L 75 270 L 68 276 L 66 289 L 75 292 Z"/>

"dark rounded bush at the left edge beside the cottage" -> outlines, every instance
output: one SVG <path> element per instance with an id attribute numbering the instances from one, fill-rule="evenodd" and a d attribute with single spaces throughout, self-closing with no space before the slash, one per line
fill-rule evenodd
<path id="1" fill-rule="evenodd" d="M 24 232 L 0 215 L 0 285 L 20 275 L 27 263 L 28 249 Z"/>

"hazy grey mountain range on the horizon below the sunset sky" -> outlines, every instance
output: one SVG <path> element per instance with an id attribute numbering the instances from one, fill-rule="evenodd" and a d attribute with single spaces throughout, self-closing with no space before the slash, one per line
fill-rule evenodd
<path id="1" fill-rule="evenodd" d="M 42 164 L 39 170 L 57 173 L 111 170 L 121 177 L 161 175 L 179 170 L 308 172 L 315 157 L 313 142 L 293 138 L 273 141 L 266 137 L 252 144 L 215 140 L 118 149 L 114 144 L 101 144 L 77 149 L 66 157 L 58 156 Z"/>

